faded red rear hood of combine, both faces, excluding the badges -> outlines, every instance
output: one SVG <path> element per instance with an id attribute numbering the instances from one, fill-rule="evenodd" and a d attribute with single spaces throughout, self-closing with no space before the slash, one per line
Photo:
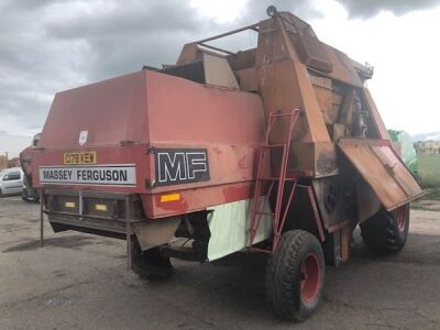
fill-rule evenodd
<path id="1" fill-rule="evenodd" d="M 144 70 L 57 94 L 32 162 L 64 166 L 66 153 L 95 152 L 96 164 L 133 164 L 134 185 L 59 188 L 140 194 L 147 218 L 161 218 L 249 198 L 264 132 L 258 96 Z M 161 202 L 176 187 L 155 186 L 154 150 L 188 147 L 208 151 L 210 179 L 180 184 L 178 200 Z M 40 173 L 33 180 L 45 186 Z"/>

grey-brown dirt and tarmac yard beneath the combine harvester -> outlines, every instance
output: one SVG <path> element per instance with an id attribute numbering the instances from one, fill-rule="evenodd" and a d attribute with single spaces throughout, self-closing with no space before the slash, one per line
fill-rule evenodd
<path id="1" fill-rule="evenodd" d="M 439 329 L 440 212 L 413 211 L 397 256 L 372 258 L 355 237 L 353 257 L 329 267 L 323 301 L 307 329 Z M 219 264 L 174 262 L 151 284 L 125 270 L 124 242 L 76 232 L 38 248 L 38 206 L 0 199 L 1 329 L 287 329 L 264 302 L 264 257 Z"/>

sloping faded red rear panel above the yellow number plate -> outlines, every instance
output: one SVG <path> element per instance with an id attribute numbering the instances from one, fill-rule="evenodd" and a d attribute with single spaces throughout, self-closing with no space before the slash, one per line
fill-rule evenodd
<path id="1" fill-rule="evenodd" d="M 145 72 L 58 92 L 38 147 L 46 150 L 147 142 Z M 79 141 L 82 132 L 82 141 Z M 121 162 L 121 161 L 120 161 Z"/>

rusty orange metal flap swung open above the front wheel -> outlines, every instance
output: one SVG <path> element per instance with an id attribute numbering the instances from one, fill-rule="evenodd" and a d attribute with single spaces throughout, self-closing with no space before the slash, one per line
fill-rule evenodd
<path id="1" fill-rule="evenodd" d="M 341 139 L 338 145 L 388 211 L 424 194 L 387 141 Z"/>

